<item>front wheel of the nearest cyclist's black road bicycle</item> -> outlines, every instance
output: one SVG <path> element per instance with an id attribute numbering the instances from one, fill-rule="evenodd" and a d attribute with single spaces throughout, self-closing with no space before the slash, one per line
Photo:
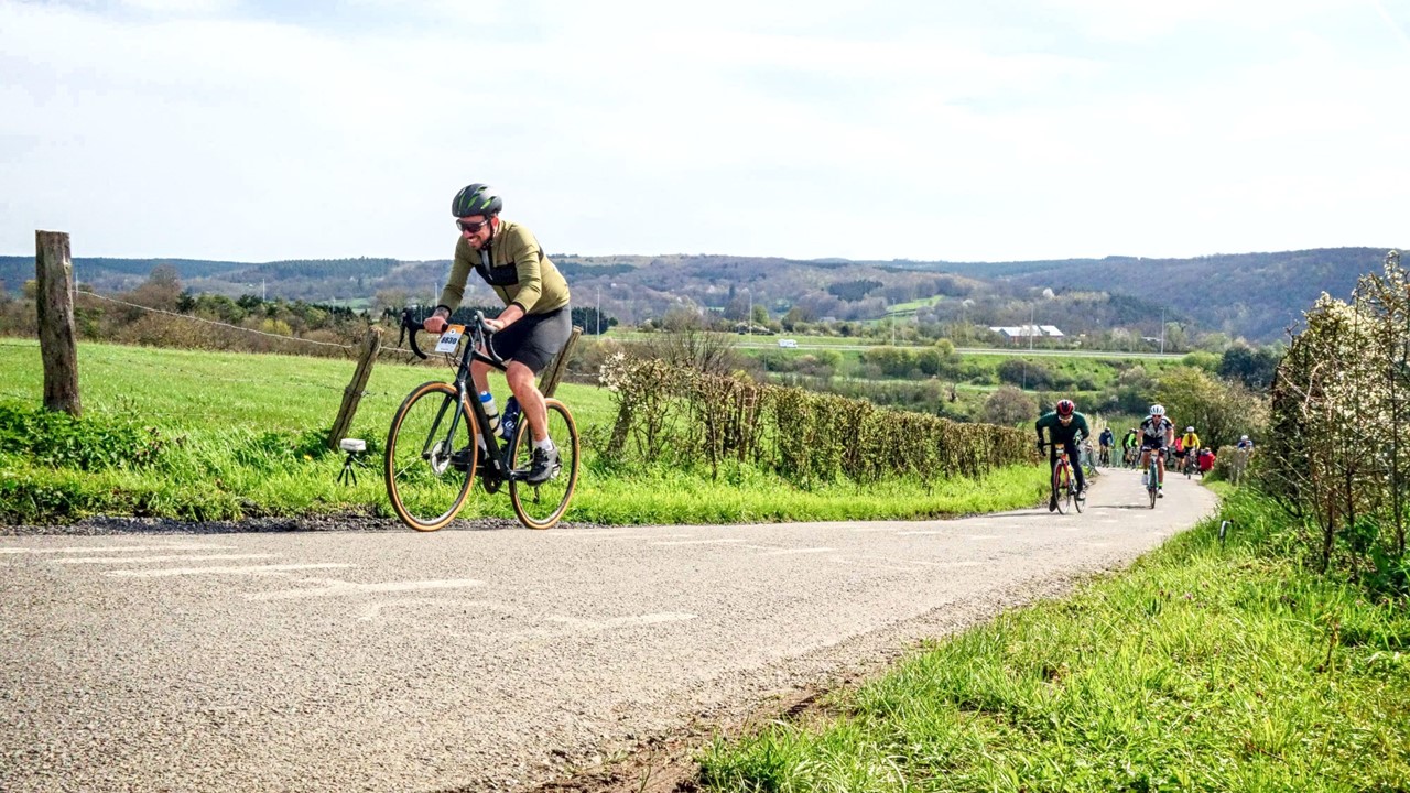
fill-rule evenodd
<path id="1" fill-rule="evenodd" d="M 448 382 L 417 385 L 386 433 L 386 495 L 407 526 L 434 532 L 460 512 L 475 481 L 475 420 Z"/>

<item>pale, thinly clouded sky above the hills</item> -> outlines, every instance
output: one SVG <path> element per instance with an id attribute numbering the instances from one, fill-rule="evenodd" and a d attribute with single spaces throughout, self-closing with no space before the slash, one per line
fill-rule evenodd
<path id="1" fill-rule="evenodd" d="M 298 10 L 290 10 L 296 6 Z M 1410 240 L 1410 0 L 0 0 L 0 254 Z"/>

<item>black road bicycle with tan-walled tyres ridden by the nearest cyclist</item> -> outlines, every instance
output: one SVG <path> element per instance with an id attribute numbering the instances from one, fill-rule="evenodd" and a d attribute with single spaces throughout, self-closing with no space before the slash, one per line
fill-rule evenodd
<path id="1" fill-rule="evenodd" d="M 402 327 L 409 330 L 412 351 L 426 358 L 416 344 L 416 333 L 424 330 L 422 323 L 403 316 Z M 477 476 L 485 492 L 498 492 L 508 484 L 515 515 L 530 529 L 551 528 L 572 500 L 578 484 L 578 425 L 568 406 L 544 398 L 548 437 L 558 447 L 558 470 L 547 481 L 533 484 L 529 481 L 533 435 L 527 418 L 520 416 L 513 435 L 501 446 L 475 395 L 471 361 L 501 371 L 506 365 L 489 343 L 494 334 L 481 312 L 475 312 L 468 326 L 447 326 L 436 351 L 453 356 L 457 344 L 462 344 L 455 380 L 417 385 L 392 416 L 386 433 L 386 495 L 396 516 L 419 532 L 434 532 L 455 519 Z"/>

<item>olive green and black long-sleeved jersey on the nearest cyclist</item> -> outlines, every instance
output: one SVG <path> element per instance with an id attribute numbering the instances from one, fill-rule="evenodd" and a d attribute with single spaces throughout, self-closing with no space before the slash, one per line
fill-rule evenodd
<path id="1" fill-rule="evenodd" d="M 525 313 L 548 313 L 568 305 L 568 282 L 544 255 L 533 233 L 516 223 L 501 220 L 489 244 L 478 251 L 461 236 L 440 305 L 451 312 L 460 306 L 471 270 L 506 306 L 517 303 Z"/>

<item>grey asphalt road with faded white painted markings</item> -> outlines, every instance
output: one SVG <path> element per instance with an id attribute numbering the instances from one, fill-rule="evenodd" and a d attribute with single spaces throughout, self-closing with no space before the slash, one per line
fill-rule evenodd
<path id="1" fill-rule="evenodd" d="M 728 724 L 1214 508 L 0 538 L 0 790 L 522 790 Z"/>

